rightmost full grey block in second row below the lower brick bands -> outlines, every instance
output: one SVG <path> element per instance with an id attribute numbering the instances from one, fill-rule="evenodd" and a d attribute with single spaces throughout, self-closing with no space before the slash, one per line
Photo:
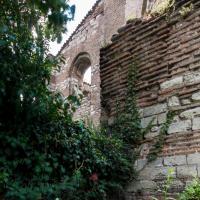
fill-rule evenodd
<path id="1" fill-rule="evenodd" d="M 185 165 L 177 167 L 178 178 L 194 178 L 197 176 L 196 165 Z"/>

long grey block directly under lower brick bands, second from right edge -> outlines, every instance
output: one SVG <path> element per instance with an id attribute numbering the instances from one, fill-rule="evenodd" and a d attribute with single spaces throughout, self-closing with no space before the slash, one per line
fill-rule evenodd
<path id="1" fill-rule="evenodd" d="M 177 156 L 168 156 L 164 158 L 164 165 L 167 166 L 177 166 L 177 165 L 186 165 L 186 156 L 177 155 Z"/>

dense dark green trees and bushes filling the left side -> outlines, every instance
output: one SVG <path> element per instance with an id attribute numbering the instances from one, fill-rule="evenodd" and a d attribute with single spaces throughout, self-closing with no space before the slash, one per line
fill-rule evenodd
<path id="1" fill-rule="evenodd" d="M 74 122 L 79 99 L 47 87 L 59 64 L 48 57 L 49 41 L 60 40 L 74 7 L 64 0 L 0 7 L 0 198 L 102 200 L 122 191 L 133 166 L 126 140 Z"/>

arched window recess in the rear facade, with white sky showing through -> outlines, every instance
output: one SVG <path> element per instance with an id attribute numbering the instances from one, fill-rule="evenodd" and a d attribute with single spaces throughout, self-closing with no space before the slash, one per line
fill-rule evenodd
<path id="1" fill-rule="evenodd" d="M 71 93 L 78 87 L 86 95 L 91 86 L 91 59 L 86 52 L 78 54 L 71 66 Z"/>

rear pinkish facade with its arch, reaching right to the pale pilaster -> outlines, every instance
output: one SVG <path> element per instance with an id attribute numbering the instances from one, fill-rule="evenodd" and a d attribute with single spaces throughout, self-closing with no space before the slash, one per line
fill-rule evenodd
<path id="1" fill-rule="evenodd" d="M 75 118 L 88 116 L 98 124 L 100 105 L 100 49 L 110 43 L 117 29 L 130 18 L 141 17 L 148 2 L 152 0 L 98 0 L 77 29 L 66 41 L 58 55 L 65 58 L 60 72 L 55 72 L 51 89 L 59 90 L 64 96 L 78 87 L 87 94 Z M 91 87 L 88 91 L 83 83 L 83 74 L 91 67 Z M 89 102 L 88 102 L 89 101 Z"/>

